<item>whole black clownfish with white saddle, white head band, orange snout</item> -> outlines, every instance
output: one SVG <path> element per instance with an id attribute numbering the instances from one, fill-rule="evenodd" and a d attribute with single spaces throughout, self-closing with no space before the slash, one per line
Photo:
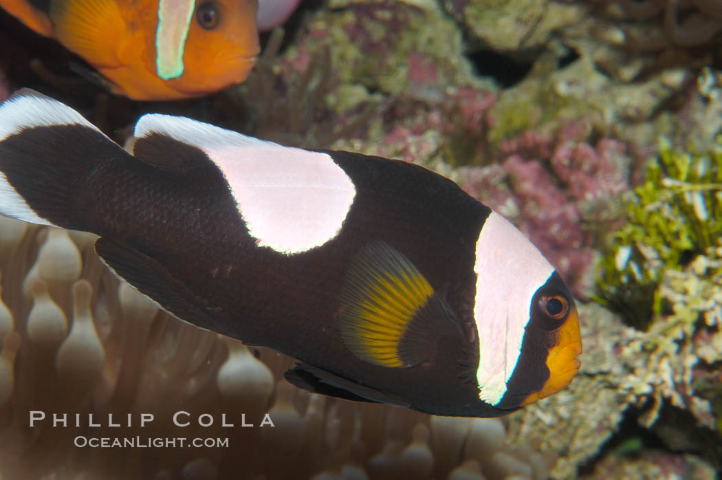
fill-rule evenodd
<path id="1" fill-rule="evenodd" d="M 526 237 L 399 160 L 144 115 L 128 150 L 66 105 L 0 106 L 0 213 L 100 235 L 173 315 L 295 357 L 300 388 L 498 416 L 579 368 L 574 300 Z"/>

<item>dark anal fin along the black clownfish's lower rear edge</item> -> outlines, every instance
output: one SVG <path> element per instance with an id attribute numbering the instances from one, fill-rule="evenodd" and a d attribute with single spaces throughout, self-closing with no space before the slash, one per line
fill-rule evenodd
<path id="1" fill-rule="evenodd" d="M 223 333 L 200 305 L 196 295 L 154 258 L 109 237 L 100 237 L 95 242 L 95 251 L 117 276 L 155 300 L 175 317 Z"/>

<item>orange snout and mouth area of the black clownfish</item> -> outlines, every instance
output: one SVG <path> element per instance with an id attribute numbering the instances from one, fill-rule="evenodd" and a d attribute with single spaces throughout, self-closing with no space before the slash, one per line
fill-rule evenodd
<path id="1" fill-rule="evenodd" d="M 547 367 L 549 379 L 541 390 L 531 393 L 521 403 L 528 405 L 541 398 L 557 393 L 569 385 L 581 366 L 577 358 L 582 353 L 582 342 L 579 332 L 579 313 L 576 305 L 570 310 L 565 323 L 557 329 L 557 344 L 549 349 Z"/>

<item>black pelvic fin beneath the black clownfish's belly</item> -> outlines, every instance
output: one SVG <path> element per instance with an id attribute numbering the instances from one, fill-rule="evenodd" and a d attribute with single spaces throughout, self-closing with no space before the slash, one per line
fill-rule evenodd
<path id="1" fill-rule="evenodd" d="M 409 403 L 375 388 L 340 377 L 328 370 L 300 362 L 284 373 L 284 378 L 298 388 L 344 400 L 387 403 L 409 407 Z"/>

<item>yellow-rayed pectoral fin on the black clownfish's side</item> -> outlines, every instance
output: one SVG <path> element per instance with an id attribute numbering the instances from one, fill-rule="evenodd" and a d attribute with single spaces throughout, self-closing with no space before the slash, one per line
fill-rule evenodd
<path id="1" fill-rule="evenodd" d="M 429 282 L 391 245 L 370 243 L 352 259 L 339 330 L 360 359 L 382 367 L 417 365 L 430 357 L 447 320 Z"/>

